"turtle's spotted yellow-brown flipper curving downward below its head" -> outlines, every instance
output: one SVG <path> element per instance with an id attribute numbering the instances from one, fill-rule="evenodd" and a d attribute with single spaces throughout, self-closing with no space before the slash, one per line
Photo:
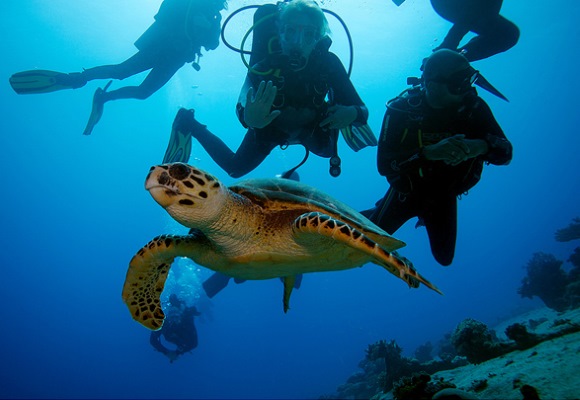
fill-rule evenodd
<path id="1" fill-rule="evenodd" d="M 165 314 L 161 292 L 175 257 L 196 258 L 207 251 L 207 239 L 199 234 L 162 235 L 151 240 L 131 259 L 123 286 L 123 301 L 133 319 L 151 330 L 159 330 Z"/>

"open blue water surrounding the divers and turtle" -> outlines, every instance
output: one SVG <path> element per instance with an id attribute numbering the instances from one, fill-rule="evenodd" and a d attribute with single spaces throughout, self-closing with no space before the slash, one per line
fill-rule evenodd
<path id="1" fill-rule="evenodd" d="M 557 243 L 554 232 L 580 215 L 577 0 L 506 0 L 502 14 L 520 27 L 520 42 L 474 63 L 511 101 L 480 92 L 512 141 L 514 159 L 487 167 L 459 203 L 454 263 L 444 268 L 433 260 L 414 220 L 396 234 L 408 244 L 402 253 L 445 296 L 409 290 L 367 265 L 306 276 L 285 315 L 279 282 L 232 283 L 200 300 L 199 346 L 170 364 L 121 301 L 133 254 L 155 235 L 185 232 L 143 182 L 163 157 L 180 106 L 195 108 L 200 121 L 237 147 L 245 132 L 234 115 L 245 74 L 239 56 L 221 45 L 205 54 L 200 72 L 184 67 L 148 100 L 108 103 L 89 137 L 81 132 L 93 91 L 104 82 L 38 96 L 18 96 L 8 85 L 21 70 L 68 72 L 124 60 L 159 4 L 2 2 L 0 397 L 316 398 L 357 370 L 369 343 L 395 339 L 412 354 L 466 317 L 493 325 L 541 305 L 516 292 L 523 267 L 536 251 L 566 259 L 574 243 Z M 231 0 L 225 15 L 247 4 L 256 2 Z M 426 0 L 399 8 L 386 0 L 354 4 L 323 2 L 351 29 L 352 80 L 378 133 L 385 101 L 419 73 L 449 24 Z M 250 18 L 234 20 L 232 38 L 241 38 Z M 333 49 L 347 62 L 344 34 L 332 24 Z M 193 154 L 192 163 L 232 182 L 198 144 Z M 340 155 L 339 178 L 313 156 L 302 180 L 356 209 L 370 207 L 387 188 L 375 150 L 353 153 L 341 142 Z M 248 176 L 272 176 L 301 157 L 299 148 L 277 149 Z M 208 271 L 193 266 L 191 273 L 191 295 L 201 298 L 199 281 Z"/>

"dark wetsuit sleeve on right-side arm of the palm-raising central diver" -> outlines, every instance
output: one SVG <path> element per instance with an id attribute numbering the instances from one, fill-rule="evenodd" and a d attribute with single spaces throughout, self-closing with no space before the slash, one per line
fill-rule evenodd
<path id="1" fill-rule="evenodd" d="M 369 111 L 354 88 L 354 85 L 348 77 L 342 63 L 335 54 L 328 53 L 326 68 L 331 78 L 330 86 L 334 95 L 334 103 L 343 106 L 355 106 L 357 109 L 357 117 L 354 120 L 353 125 L 360 126 L 366 124 L 369 117 Z"/>

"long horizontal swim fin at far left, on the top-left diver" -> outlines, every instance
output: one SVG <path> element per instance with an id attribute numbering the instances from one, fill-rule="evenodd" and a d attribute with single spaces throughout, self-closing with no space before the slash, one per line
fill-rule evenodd
<path id="1" fill-rule="evenodd" d="M 77 89 L 87 83 L 80 72 L 66 74 L 45 69 L 17 72 L 10 77 L 9 81 L 12 89 L 18 94 L 39 94 Z"/>

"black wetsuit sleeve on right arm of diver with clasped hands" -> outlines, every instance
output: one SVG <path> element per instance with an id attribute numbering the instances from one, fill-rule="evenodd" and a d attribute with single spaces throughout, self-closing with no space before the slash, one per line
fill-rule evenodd
<path id="1" fill-rule="evenodd" d="M 494 165 L 509 164 L 512 159 L 512 144 L 497 123 L 491 109 L 482 99 L 479 99 L 472 118 L 474 125 L 483 129 L 483 139 L 489 147 L 489 151 L 482 156 L 482 159 Z"/>

